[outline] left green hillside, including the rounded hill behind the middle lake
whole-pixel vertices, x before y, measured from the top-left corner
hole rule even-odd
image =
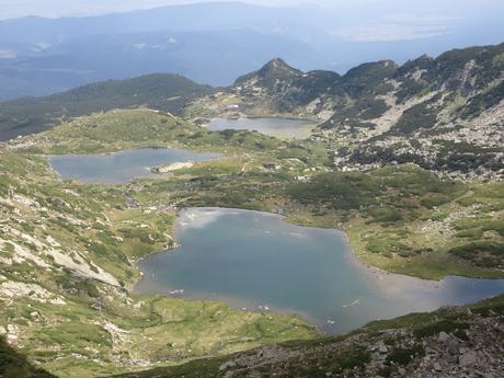
[[[41,154],[176,146],[244,156],[285,142],[211,133],[149,110],[79,117],[31,138],[0,147],[0,335],[31,363],[61,378],[90,378],[317,336],[294,317],[134,293],[136,263],[174,247],[173,198],[197,195],[201,181],[209,186],[208,175],[239,171],[241,160],[196,164],[180,180],[159,180],[183,191],[165,188],[170,203],[152,207],[153,198],[134,199],[149,196],[137,192],[149,180],[60,181]]]

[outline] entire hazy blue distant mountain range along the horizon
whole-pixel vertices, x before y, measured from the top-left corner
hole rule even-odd
[[[504,37],[499,18],[482,21],[477,14],[471,20],[447,19],[420,35],[373,36],[366,27],[387,13],[387,7],[380,7],[377,15],[373,9],[343,12],[316,5],[215,2],[100,16],[4,20],[0,100],[153,72],[228,85],[275,56],[305,70],[343,73],[363,61],[403,62],[422,53],[437,55],[462,43],[489,44]],[[389,20],[381,22],[389,27]],[[479,27],[483,22],[484,32]],[[366,27],[354,31],[355,25]]]

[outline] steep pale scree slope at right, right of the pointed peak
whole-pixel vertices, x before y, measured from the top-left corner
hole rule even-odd
[[[375,96],[387,108],[370,119],[363,117],[369,107],[350,119],[335,115],[324,125],[333,141],[356,139],[351,151],[340,150],[337,163],[414,162],[458,176],[504,176],[503,80],[504,44],[408,62]]]

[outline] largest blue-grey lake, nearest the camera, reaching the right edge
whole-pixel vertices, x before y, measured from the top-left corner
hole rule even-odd
[[[187,209],[175,237],[181,248],[139,263],[138,294],[298,314],[330,334],[504,293],[504,280],[431,282],[366,267],[341,232],[293,226],[273,214]]]

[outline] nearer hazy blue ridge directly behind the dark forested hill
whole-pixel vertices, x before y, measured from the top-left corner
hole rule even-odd
[[[308,64],[314,54],[297,39],[253,31],[85,36],[36,56],[0,59],[0,99],[44,95],[153,72],[174,72],[222,85],[277,55]]]

